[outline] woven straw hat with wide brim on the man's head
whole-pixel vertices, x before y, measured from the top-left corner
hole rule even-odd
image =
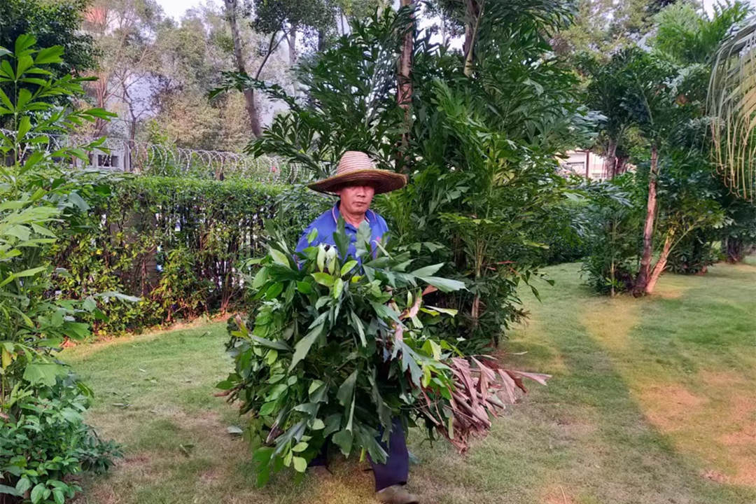
[[[407,175],[377,169],[366,153],[347,150],[339,159],[336,175],[313,182],[307,187],[321,193],[334,193],[339,187],[357,184],[375,188],[376,194],[388,193],[407,185]]]

